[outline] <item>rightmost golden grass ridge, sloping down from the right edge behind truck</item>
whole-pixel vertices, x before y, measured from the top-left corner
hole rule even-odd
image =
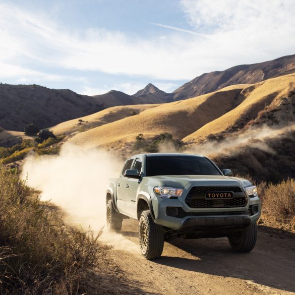
[[[204,141],[208,136],[214,137],[217,134],[245,129],[255,123],[255,120],[261,119],[263,113],[273,110],[279,111],[278,114],[281,115],[279,118],[281,122],[277,122],[277,125],[282,121],[294,120],[293,106],[295,101],[292,98],[294,87],[295,74],[249,85],[241,91],[241,95],[245,96],[241,104],[202,128],[196,129],[194,133],[184,137],[183,141],[194,144]],[[286,104],[289,104],[289,107],[283,107]],[[281,111],[282,108],[283,111]],[[275,122],[274,115],[272,116],[269,115],[268,121]]]

